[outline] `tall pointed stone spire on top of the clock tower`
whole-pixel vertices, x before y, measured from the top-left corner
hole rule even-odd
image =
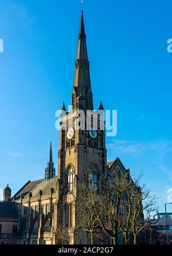
[[[77,56],[75,62],[75,77],[71,102],[73,110],[93,109],[83,10],[81,12]]]

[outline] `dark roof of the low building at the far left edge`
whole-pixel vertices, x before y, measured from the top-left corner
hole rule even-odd
[[[0,219],[17,219],[18,208],[15,202],[3,201],[0,202]]]

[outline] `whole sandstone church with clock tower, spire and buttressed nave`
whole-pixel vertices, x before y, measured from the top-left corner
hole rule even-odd
[[[107,162],[105,129],[100,129],[104,127],[103,119],[98,119],[96,129],[92,128],[93,117],[85,119],[85,123],[90,123],[90,129],[76,129],[77,110],[85,114],[87,110],[94,112],[83,12],[71,90],[71,112],[67,112],[64,103],[61,109],[58,174],[55,173],[50,143],[45,177],[28,181],[12,197],[9,186],[4,190],[0,202],[0,244],[55,244],[54,234],[59,227],[68,228],[70,244],[90,244],[87,232],[77,228],[75,207],[70,203],[73,194],[77,197],[77,184],[87,170],[91,171],[96,185],[101,184],[104,175],[107,177],[117,170],[127,171],[119,158]],[[99,111],[103,111],[101,102]],[[99,243],[111,243],[106,239],[102,238]]]

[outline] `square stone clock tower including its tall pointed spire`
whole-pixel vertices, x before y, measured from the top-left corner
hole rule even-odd
[[[79,229],[75,207],[70,204],[77,197],[77,184],[91,171],[95,185],[101,184],[107,171],[103,105],[93,110],[93,95],[89,75],[83,11],[81,13],[75,76],[71,95],[71,112],[62,105],[60,148],[58,150],[57,226],[68,228],[71,244],[90,244],[87,232]],[[89,110],[89,111],[88,111]],[[81,118],[81,116],[83,118]],[[74,233],[77,233],[75,238]]]

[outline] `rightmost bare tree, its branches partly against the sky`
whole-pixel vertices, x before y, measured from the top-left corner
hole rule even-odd
[[[151,195],[151,191],[146,185],[139,186],[142,176],[133,181],[131,179],[130,186],[126,187],[126,210],[124,215],[119,218],[119,227],[123,231],[125,243],[128,243],[128,234],[132,234],[133,243],[137,243],[137,238],[143,230],[151,231],[151,224],[155,223],[155,217],[158,215],[156,207],[156,197]],[[144,220],[144,215],[146,220]]]

